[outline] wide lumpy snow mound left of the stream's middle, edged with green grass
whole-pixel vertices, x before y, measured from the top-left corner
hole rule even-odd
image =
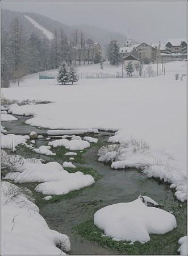
[[[14,180],[15,183],[44,182],[37,185],[35,190],[45,195],[61,195],[95,183],[91,175],[84,175],[82,172],[69,174],[57,162],[47,164],[23,162],[19,166],[19,171],[9,172],[4,179]]]

